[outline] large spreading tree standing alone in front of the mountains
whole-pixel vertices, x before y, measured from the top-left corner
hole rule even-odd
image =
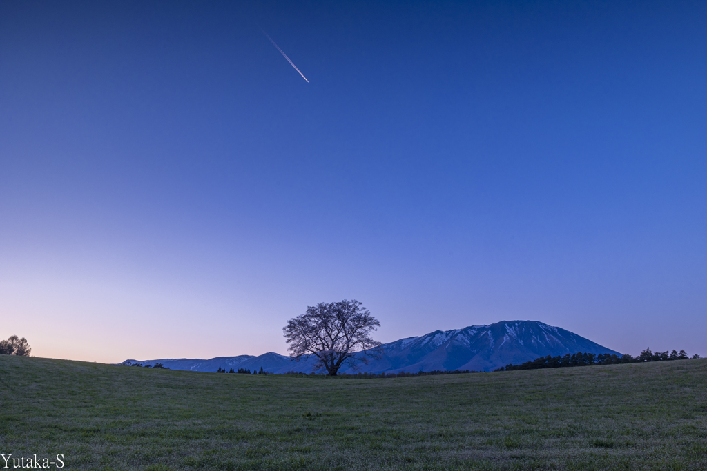
[[[362,303],[344,299],[309,306],[282,330],[293,360],[314,355],[319,359],[315,369],[325,368],[329,376],[337,376],[343,364],[358,369],[359,363],[369,364],[371,358],[380,357],[380,342],[370,338],[376,327],[380,322]]]

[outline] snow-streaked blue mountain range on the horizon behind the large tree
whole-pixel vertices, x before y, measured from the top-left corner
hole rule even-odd
[[[468,369],[491,371],[506,364],[529,362],[547,355],[568,353],[615,353],[591,340],[569,330],[548,326],[537,321],[501,321],[490,326],[469,326],[459,330],[436,330],[422,337],[409,337],[382,345],[382,358],[368,365],[361,365],[359,371],[370,373],[399,371],[433,371]],[[170,369],[187,371],[216,371],[219,367],[258,371],[261,367],[270,373],[282,374],[288,371],[310,373],[315,359],[291,361],[277,353],[266,353],[258,357],[240,355],[238,357],[216,357],[211,359],[125,360],[121,364],[153,366],[161,363]],[[351,373],[344,367],[339,373]]]

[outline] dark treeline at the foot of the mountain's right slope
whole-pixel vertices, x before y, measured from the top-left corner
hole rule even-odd
[[[597,364],[625,364],[625,363],[645,363],[645,362],[670,362],[672,360],[682,360],[690,358],[685,350],[673,350],[672,352],[651,352],[646,348],[638,357],[614,353],[583,353],[566,354],[563,357],[547,355],[538,357],[531,362],[521,364],[507,364],[494,371],[513,371],[517,369],[543,369],[543,368],[564,368],[566,366],[592,366]],[[692,355],[692,358],[700,358],[699,354]]]

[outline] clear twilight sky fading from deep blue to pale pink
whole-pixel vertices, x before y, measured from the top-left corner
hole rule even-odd
[[[534,320],[707,355],[707,4],[3,2],[0,338]],[[291,66],[268,39],[296,64]]]

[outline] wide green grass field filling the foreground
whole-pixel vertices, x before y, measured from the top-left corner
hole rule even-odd
[[[62,453],[65,470],[707,470],[707,360],[364,380],[0,355],[0,453]]]

